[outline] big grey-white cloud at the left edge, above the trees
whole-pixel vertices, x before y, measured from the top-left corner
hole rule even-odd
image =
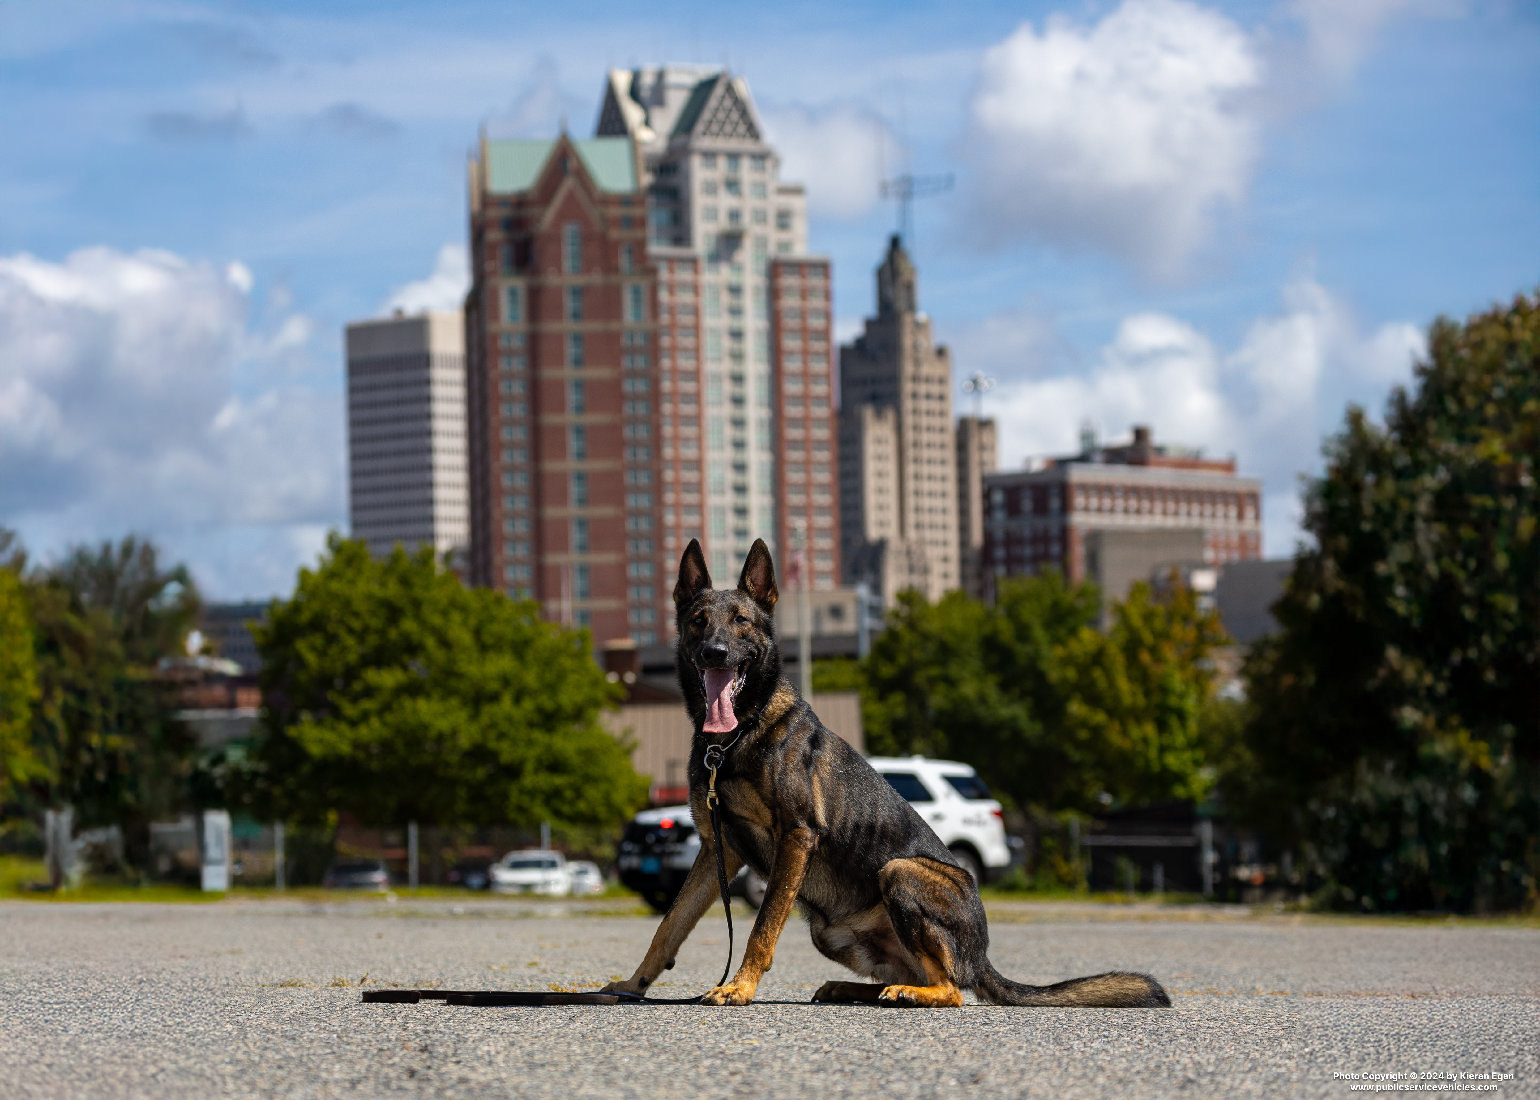
[[[253,331],[249,288],[243,265],[165,251],[0,257],[0,522],[42,556],[129,532],[186,555],[256,532],[216,595],[286,590],[288,532],[342,521],[342,408],[276,381],[311,322]]]

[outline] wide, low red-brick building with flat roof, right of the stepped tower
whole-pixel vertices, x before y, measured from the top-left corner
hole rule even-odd
[[[1121,599],[1167,567],[1261,558],[1261,482],[1235,459],[1133,441],[984,478],[984,587],[993,578],[1055,568]]]

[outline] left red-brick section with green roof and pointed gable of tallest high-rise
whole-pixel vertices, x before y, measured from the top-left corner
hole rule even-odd
[[[636,149],[484,140],[470,194],[471,582],[599,639],[656,641],[656,277]]]

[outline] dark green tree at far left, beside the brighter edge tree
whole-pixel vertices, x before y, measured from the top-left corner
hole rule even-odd
[[[160,658],[185,653],[197,589],[136,538],[75,547],[28,589],[40,689],[32,741],[46,769],[35,798],[74,806],[82,826],[120,826],[129,864],[143,869],[149,823],[186,807],[197,752],[156,676]]]

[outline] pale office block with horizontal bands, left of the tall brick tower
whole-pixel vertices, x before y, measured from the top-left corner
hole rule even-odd
[[[388,555],[470,538],[465,325],[459,313],[348,325],[348,498],[353,538]]]

